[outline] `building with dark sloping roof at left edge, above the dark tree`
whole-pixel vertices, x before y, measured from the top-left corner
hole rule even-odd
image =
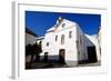
[[[26,28],[26,45],[36,43],[37,37],[32,30]]]

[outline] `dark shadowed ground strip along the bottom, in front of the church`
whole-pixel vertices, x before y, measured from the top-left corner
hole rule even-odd
[[[78,65],[67,65],[67,63],[59,63],[58,61],[39,61],[32,63],[26,63],[26,69],[51,69],[51,68],[75,68],[75,67],[97,67],[101,65],[101,61],[99,62],[84,62],[79,63]]]

